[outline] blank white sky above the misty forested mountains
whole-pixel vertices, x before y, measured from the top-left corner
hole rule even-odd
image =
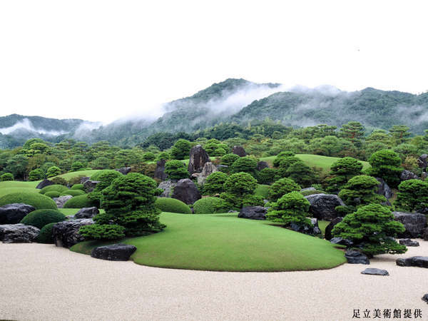
[[[0,116],[113,121],[225,78],[428,90],[428,1],[0,1]]]

